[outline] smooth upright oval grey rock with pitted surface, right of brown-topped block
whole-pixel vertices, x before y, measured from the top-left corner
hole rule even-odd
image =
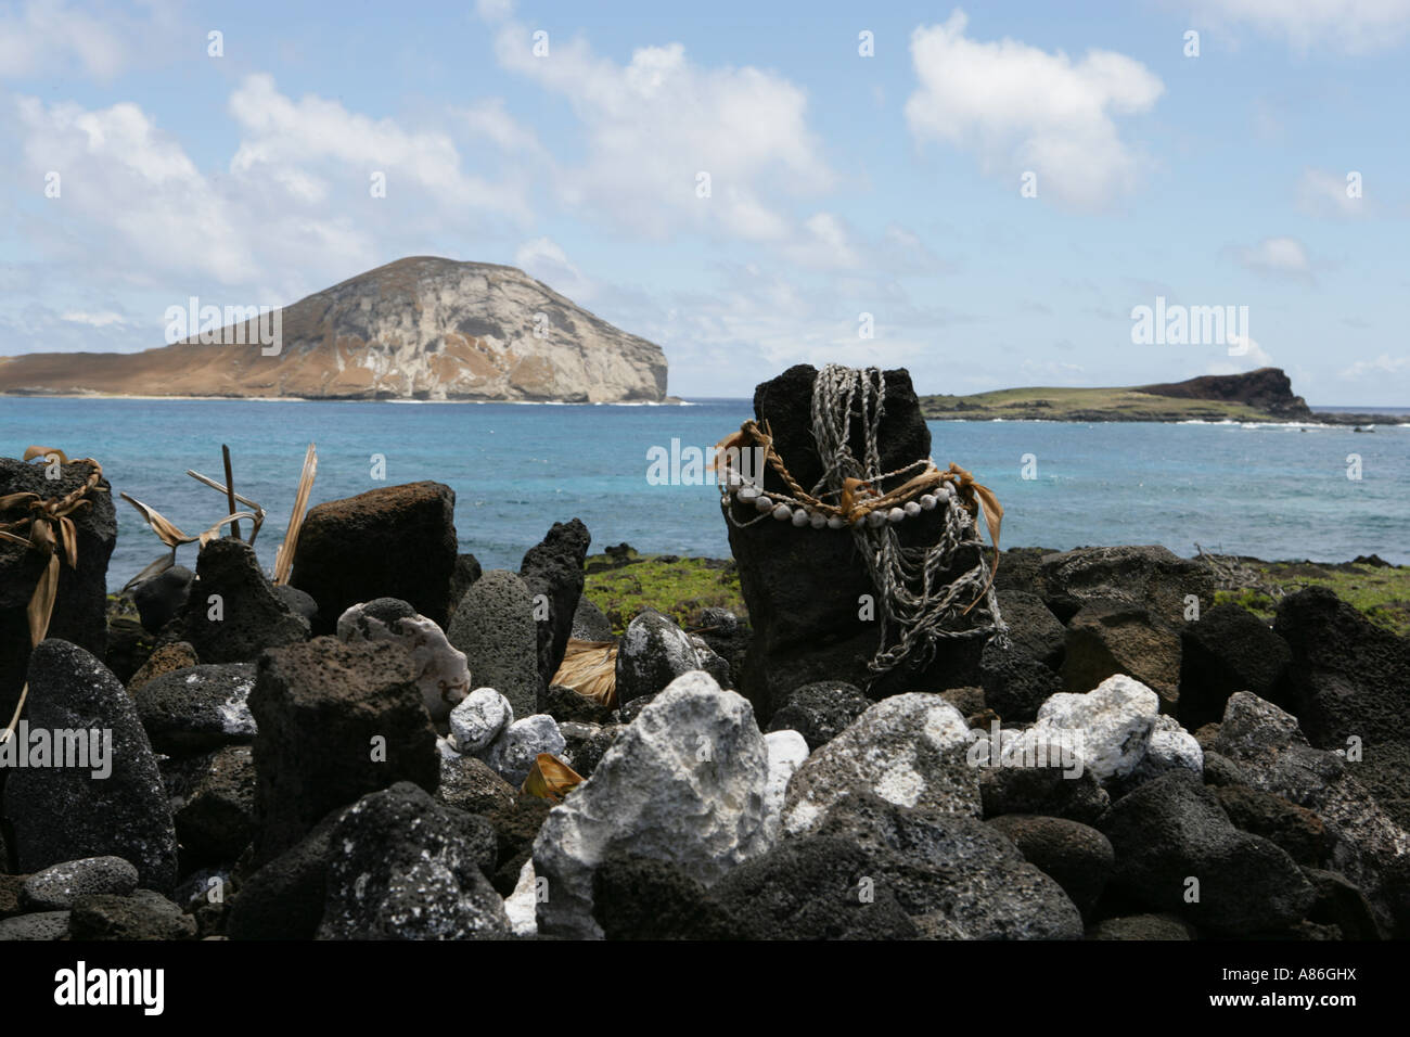
[[[470,676],[509,700],[515,714],[527,717],[539,704],[539,625],[533,594],[522,578],[503,569],[479,577],[455,608],[446,631],[465,653]]]

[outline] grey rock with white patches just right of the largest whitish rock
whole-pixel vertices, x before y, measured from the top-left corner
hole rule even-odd
[[[838,803],[874,793],[890,803],[980,814],[969,725],[935,694],[884,698],[812,753],[788,782],[784,831],[816,831]]]

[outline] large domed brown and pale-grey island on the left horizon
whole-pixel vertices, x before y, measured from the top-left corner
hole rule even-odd
[[[0,392],[592,404],[666,396],[660,346],[513,267],[398,260],[286,306],[281,325],[275,356],[265,356],[251,322],[219,340],[255,344],[188,340],[133,354],[0,358]]]

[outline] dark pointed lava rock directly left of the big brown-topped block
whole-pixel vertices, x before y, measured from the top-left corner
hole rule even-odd
[[[200,549],[196,583],[173,626],[206,663],[251,663],[266,648],[309,639],[309,621],[274,593],[254,547],[230,538]]]

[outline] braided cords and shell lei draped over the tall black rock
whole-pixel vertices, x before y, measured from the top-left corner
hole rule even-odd
[[[757,447],[768,467],[777,473],[788,494],[770,492],[771,499],[805,507],[828,516],[840,518],[852,530],[857,549],[867,566],[880,598],[881,638],[869,669],[877,676],[887,673],[902,660],[916,656],[929,665],[939,641],[956,638],[998,636],[1007,642],[1008,628],[994,594],[994,574],[998,571],[998,539],[1004,508],[991,490],[957,464],[940,470],[929,457],[912,461],[893,471],[881,471],[881,451],[877,435],[885,405],[885,380],[878,368],[857,370],[842,364],[828,364],[814,382],[812,433],[818,456],[823,464],[822,477],[805,490],[788,471],[774,449],[774,437],[764,422],[746,420],[739,432],[716,444],[716,471],[728,475],[730,456]],[[864,457],[859,460],[850,447],[853,409],[862,415]],[[885,490],[885,484],[915,473],[900,485]],[[922,547],[902,547],[891,522],[873,525],[867,515],[878,509],[901,507],[935,488],[950,485],[953,499],[960,507],[946,507],[945,525],[939,540]],[[746,528],[759,518],[739,521],[726,507],[728,519]],[[983,514],[994,549],[994,566],[979,553],[977,563],[940,583],[940,574],[953,567],[956,552],[981,543],[977,519]],[[970,624],[959,625],[974,612]],[[893,643],[893,631],[895,631]]]

